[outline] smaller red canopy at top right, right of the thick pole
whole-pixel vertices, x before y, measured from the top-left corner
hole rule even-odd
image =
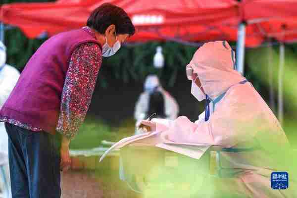
[[[296,0],[243,0],[241,17],[257,34],[282,42],[297,39]]]

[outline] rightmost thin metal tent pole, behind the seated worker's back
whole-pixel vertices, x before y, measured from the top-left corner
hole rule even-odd
[[[285,66],[285,45],[282,42],[280,45],[280,65],[279,65],[279,76],[278,76],[278,118],[280,123],[283,125],[284,121],[284,96],[283,96],[283,77],[284,77],[284,66]]]

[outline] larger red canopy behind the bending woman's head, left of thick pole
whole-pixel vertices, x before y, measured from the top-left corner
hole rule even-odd
[[[3,23],[19,27],[29,38],[49,36],[85,25],[87,17],[103,2],[124,8],[137,28],[131,41],[175,38],[203,41],[228,38],[219,26],[238,24],[234,0],[59,0],[54,3],[12,3],[0,10]]]

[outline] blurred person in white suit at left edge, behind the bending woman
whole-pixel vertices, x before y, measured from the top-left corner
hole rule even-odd
[[[20,74],[12,66],[5,64],[6,48],[0,42],[0,108],[8,98]],[[8,137],[4,123],[0,122],[0,192],[10,198],[10,177],[8,168]],[[0,194],[1,194],[0,193]]]

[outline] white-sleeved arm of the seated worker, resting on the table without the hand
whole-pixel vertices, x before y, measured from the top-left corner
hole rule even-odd
[[[233,147],[265,127],[265,112],[257,108],[253,93],[240,98],[236,92],[227,93],[221,102],[206,122],[193,123],[185,116],[176,119],[168,130],[169,140]]]

